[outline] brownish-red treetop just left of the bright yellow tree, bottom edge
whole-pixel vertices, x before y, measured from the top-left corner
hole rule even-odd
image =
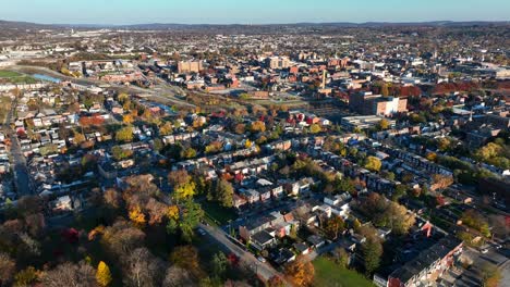
[[[77,264],[65,262],[58,265],[56,269],[46,272],[42,276],[42,286],[97,286],[94,273],[94,269],[83,261]]]

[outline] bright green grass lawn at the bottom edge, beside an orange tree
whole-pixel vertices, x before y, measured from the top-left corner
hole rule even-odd
[[[355,271],[340,267],[333,261],[319,257],[314,260],[317,287],[374,287],[375,285]]]

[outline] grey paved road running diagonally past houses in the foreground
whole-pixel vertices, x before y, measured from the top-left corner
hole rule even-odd
[[[283,275],[276,271],[271,265],[259,262],[255,255],[233,244],[229,238],[227,238],[226,234],[220,228],[205,224],[201,224],[199,227],[209,234],[209,236],[211,236],[215,240],[221,244],[226,249],[234,253],[240,259],[241,263],[251,266],[258,276],[266,280],[270,279],[272,276],[279,276],[280,278],[283,278]],[[288,285],[290,286],[290,284]]]

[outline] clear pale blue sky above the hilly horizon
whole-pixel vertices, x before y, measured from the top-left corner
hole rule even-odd
[[[510,21],[510,0],[0,0],[0,20],[119,25]]]

